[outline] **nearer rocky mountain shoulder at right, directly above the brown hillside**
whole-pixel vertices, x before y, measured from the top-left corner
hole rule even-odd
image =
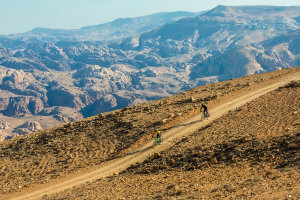
[[[191,79],[219,81],[300,66],[300,30],[210,56],[192,68]],[[205,79],[205,78],[204,78]]]

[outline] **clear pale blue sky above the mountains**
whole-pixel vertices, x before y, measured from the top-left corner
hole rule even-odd
[[[217,5],[300,5],[299,0],[0,0],[0,34],[33,28],[76,29],[158,12],[210,10]]]

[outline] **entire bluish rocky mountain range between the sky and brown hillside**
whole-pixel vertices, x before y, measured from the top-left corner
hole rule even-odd
[[[65,123],[209,82],[300,65],[300,7],[218,6],[193,15],[80,29],[88,38],[91,30],[135,26],[120,37],[135,36],[105,44],[83,42],[76,31],[68,33],[72,41],[65,31],[43,29],[30,34],[45,40],[29,33],[0,37],[0,114]],[[144,32],[154,18],[161,26]]]

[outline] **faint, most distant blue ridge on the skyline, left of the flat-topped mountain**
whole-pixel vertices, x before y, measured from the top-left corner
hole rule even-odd
[[[158,28],[166,23],[172,23],[181,18],[194,17],[203,12],[164,12],[152,15],[119,18],[112,22],[87,26],[81,29],[49,29],[35,28],[32,31],[9,35],[8,39],[18,39],[26,42],[58,42],[58,41],[111,41],[139,35]],[[8,43],[8,42],[7,42]]]

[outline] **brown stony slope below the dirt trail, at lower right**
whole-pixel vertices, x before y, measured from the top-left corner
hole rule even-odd
[[[120,175],[44,199],[299,199],[299,94],[288,84]]]

